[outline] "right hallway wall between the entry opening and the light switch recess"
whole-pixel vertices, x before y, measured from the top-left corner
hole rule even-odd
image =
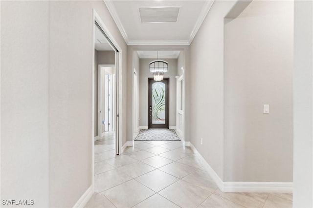
[[[224,17],[234,3],[235,1],[214,1],[190,45],[190,66],[192,67],[189,75],[190,120],[187,120],[192,125],[190,141],[222,179],[224,168]],[[187,75],[186,78],[188,78]],[[187,90],[186,87],[186,93],[188,93]],[[201,138],[203,138],[203,145],[201,145]]]

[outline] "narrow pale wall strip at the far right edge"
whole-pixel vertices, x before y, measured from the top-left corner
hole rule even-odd
[[[313,207],[313,3],[294,1],[293,207]]]

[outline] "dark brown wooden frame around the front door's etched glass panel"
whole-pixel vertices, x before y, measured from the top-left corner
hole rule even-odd
[[[156,127],[152,124],[152,116],[150,115],[150,102],[152,102],[151,84],[150,82],[157,83],[154,78],[148,78],[148,128],[169,128],[170,127],[170,78],[163,78],[167,80],[167,87],[165,89],[165,127]]]

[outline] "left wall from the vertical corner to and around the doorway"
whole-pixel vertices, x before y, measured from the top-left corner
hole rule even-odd
[[[50,1],[49,4],[50,206],[72,207],[92,179],[92,9],[122,49],[122,79],[126,77],[127,46],[103,1]],[[60,35],[60,31],[66,35]],[[120,101],[123,144],[126,142],[124,83],[122,80]]]

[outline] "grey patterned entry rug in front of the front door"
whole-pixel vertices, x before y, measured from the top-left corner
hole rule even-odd
[[[140,129],[137,137],[137,141],[169,141],[169,140],[180,140],[174,129],[168,128],[149,128]]]

